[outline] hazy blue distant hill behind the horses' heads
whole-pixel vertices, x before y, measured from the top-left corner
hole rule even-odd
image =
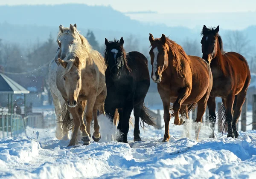
[[[151,15],[154,14],[156,13],[151,13]],[[170,22],[175,21],[171,17],[169,19]],[[200,46],[201,40],[202,27],[200,26],[190,29],[183,26],[169,27],[165,24],[143,23],[131,20],[127,15],[110,6],[87,6],[84,4],[0,6],[0,39],[25,44],[25,47],[37,41],[46,41],[50,34],[55,38],[58,26],[60,24],[69,26],[70,23],[76,23],[82,34],[86,34],[88,29],[92,30],[100,45],[104,44],[105,37],[113,40],[115,37],[126,39],[132,35],[138,39],[140,49],[148,48],[150,45],[149,33],[154,37],[166,34],[180,44],[185,39],[191,39],[198,41]],[[206,25],[210,24],[206,23]],[[252,45],[256,45],[256,26],[251,26],[243,31],[250,38]],[[226,34],[222,27],[220,34],[222,37]]]

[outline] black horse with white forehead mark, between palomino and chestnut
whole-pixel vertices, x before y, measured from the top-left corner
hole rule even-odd
[[[125,52],[123,38],[109,42],[105,39],[105,72],[107,97],[105,113],[113,122],[116,108],[119,113],[117,129],[121,135],[119,142],[127,143],[129,119],[134,109],[134,141],[141,141],[139,118],[148,125],[155,126],[152,117],[144,105],[144,99],[150,85],[147,58],[137,51]]]

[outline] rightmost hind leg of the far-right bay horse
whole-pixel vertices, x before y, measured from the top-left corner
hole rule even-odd
[[[232,128],[233,128],[233,132],[234,132],[234,135],[236,138],[238,138],[238,136],[239,136],[236,125],[237,125],[238,119],[241,115],[241,109],[242,109],[242,106],[243,106],[245,98],[246,98],[246,93],[247,93],[247,91],[241,91],[237,95],[236,107],[235,107],[234,116],[232,119]]]

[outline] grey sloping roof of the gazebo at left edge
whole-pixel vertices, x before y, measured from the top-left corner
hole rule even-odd
[[[13,81],[11,78],[0,73],[0,94],[28,94],[29,91],[26,88]]]

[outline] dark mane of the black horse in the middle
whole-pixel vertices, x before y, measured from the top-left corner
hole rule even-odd
[[[128,63],[127,63],[126,51],[125,51],[125,49],[124,49],[121,45],[119,45],[119,40],[114,39],[114,41],[110,41],[110,42],[109,42],[109,46],[111,46],[111,49],[116,48],[116,49],[118,49],[119,51],[122,51],[122,53],[123,53],[123,55],[124,55],[123,58],[124,58],[125,68],[126,68],[129,72],[131,72],[131,68],[129,68]],[[105,65],[106,65],[106,66],[108,66],[108,52],[109,52],[109,49],[106,47],[106,48],[105,48],[105,51],[104,51],[104,58],[105,58]]]

